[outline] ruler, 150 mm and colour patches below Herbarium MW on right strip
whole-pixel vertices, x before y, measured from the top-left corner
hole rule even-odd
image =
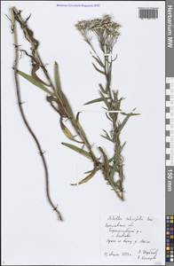
[[[174,263],[173,178],[174,178],[174,77],[166,77],[165,96],[165,181],[166,181],[166,265]]]

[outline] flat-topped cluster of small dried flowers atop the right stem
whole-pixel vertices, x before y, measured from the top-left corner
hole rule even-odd
[[[94,33],[102,51],[110,52],[120,35],[118,30],[121,25],[113,21],[110,15],[104,15],[101,19],[78,21],[75,27],[87,43],[91,42],[91,34]]]

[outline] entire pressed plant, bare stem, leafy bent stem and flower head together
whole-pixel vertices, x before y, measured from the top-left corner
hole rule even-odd
[[[47,68],[39,55],[39,42],[36,40],[34,32],[28,27],[28,19],[30,18],[30,16],[26,20],[24,20],[21,16],[21,11],[17,10],[15,7],[12,7],[10,11],[12,34],[14,37],[13,71],[18,104],[21,117],[26,127],[28,128],[29,133],[34,138],[43,161],[46,180],[46,196],[48,202],[58,214],[59,220],[62,220],[62,216],[58,210],[58,207],[56,207],[51,200],[48,168],[44,158],[43,150],[35,133],[29,126],[26,115],[24,113],[24,108],[20,96],[19,76],[25,78],[26,80],[28,80],[28,82],[34,84],[36,87],[46,93],[46,101],[58,114],[60,129],[62,129],[66,137],[72,142],[63,142],[62,145],[67,146],[75,153],[79,153],[86,157],[88,160],[91,160],[93,168],[87,173],[87,176],[85,176],[83,180],[77,184],[84,184],[88,182],[100,170],[103,173],[104,179],[107,181],[107,184],[112,187],[118,198],[123,200],[124,175],[122,151],[125,143],[121,144],[120,135],[124,125],[129,120],[130,116],[137,115],[138,113],[124,113],[121,110],[121,103],[123,101],[123,98],[118,97],[117,90],[111,89],[112,66],[113,62],[115,61],[115,59],[112,58],[112,53],[116,40],[119,36],[118,30],[120,28],[120,25],[115,23],[109,15],[105,15],[101,19],[97,20],[79,21],[75,25],[75,27],[83,35],[84,41],[90,45],[92,58],[96,61],[95,64],[92,65],[100,74],[106,77],[106,84],[99,84],[99,98],[86,103],[87,105],[96,102],[103,102],[106,108],[107,119],[109,120],[109,122],[111,122],[112,126],[109,132],[107,132],[107,130],[104,130],[104,135],[102,135],[102,137],[105,137],[108,141],[113,143],[114,154],[111,158],[108,158],[105,149],[99,146],[98,148],[101,156],[98,157],[95,154],[89,138],[84,132],[83,126],[79,119],[80,112],[76,114],[73,112],[69,100],[67,99],[66,94],[61,88],[59,78],[59,65],[56,61],[54,62],[53,66],[54,80],[51,80],[51,75],[48,73]],[[21,45],[19,45],[18,43],[17,23],[23,31],[24,38],[30,44],[29,51],[22,50]],[[99,49],[102,51],[103,59],[99,57],[98,52],[95,50],[92,44],[92,35],[97,36]],[[26,74],[19,69],[19,53],[23,53],[30,59],[30,74]],[[45,80],[39,77],[38,70],[41,70],[43,72]],[[120,121],[119,115],[123,116],[122,121]],[[71,129],[67,127],[67,121],[70,123]],[[74,131],[74,134],[72,133],[72,130]]]

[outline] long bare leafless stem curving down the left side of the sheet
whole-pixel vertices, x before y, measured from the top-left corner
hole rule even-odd
[[[22,100],[21,100],[21,95],[20,95],[20,82],[18,79],[18,74],[17,74],[17,70],[18,70],[18,65],[19,65],[19,50],[18,50],[18,36],[17,36],[17,29],[16,29],[16,20],[15,20],[15,15],[14,15],[14,8],[11,9],[11,14],[12,14],[12,34],[13,34],[13,40],[14,40],[14,64],[13,64],[13,70],[14,70],[14,80],[15,80],[15,88],[16,88],[16,94],[17,94],[17,99],[18,99],[18,106],[20,109],[20,115],[22,117],[22,120],[24,121],[24,124],[26,125],[29,134],[31,135],[31,137],[33,137],[38,152],[41,155],[41,159],[43,162],[43,167],[44,167],[44,176],[45,176],[45,184],[46,184],[46,197],[47,200],[49,202],[49,204],[51,205],[51,207],[53,208],[53,210],[56,212],[56,214],[58,215],[58,218],[60,221],[63,221],[62,215],[60,214],[59,210],[57,209],[57,207],[53,204],[52,200],[51,200],[51,195],[50,195],[50,184],[49,184],[49,173],[48,173],[48,167],[46,164],[46,160],[44,158],[44,152],[42,150],[42,147],[38,141],[38,138],[36,137],[36,134],[34,133],[33,129],[31,129],[28,120],[26,118],[26,115],[24,113],[23,107],[22,107]]]

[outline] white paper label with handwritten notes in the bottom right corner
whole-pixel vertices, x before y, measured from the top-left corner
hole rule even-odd
[[[105,262],[164,263],[164,224],[159,219],[151,215],[103,215],[101,226],[101,256]]]

